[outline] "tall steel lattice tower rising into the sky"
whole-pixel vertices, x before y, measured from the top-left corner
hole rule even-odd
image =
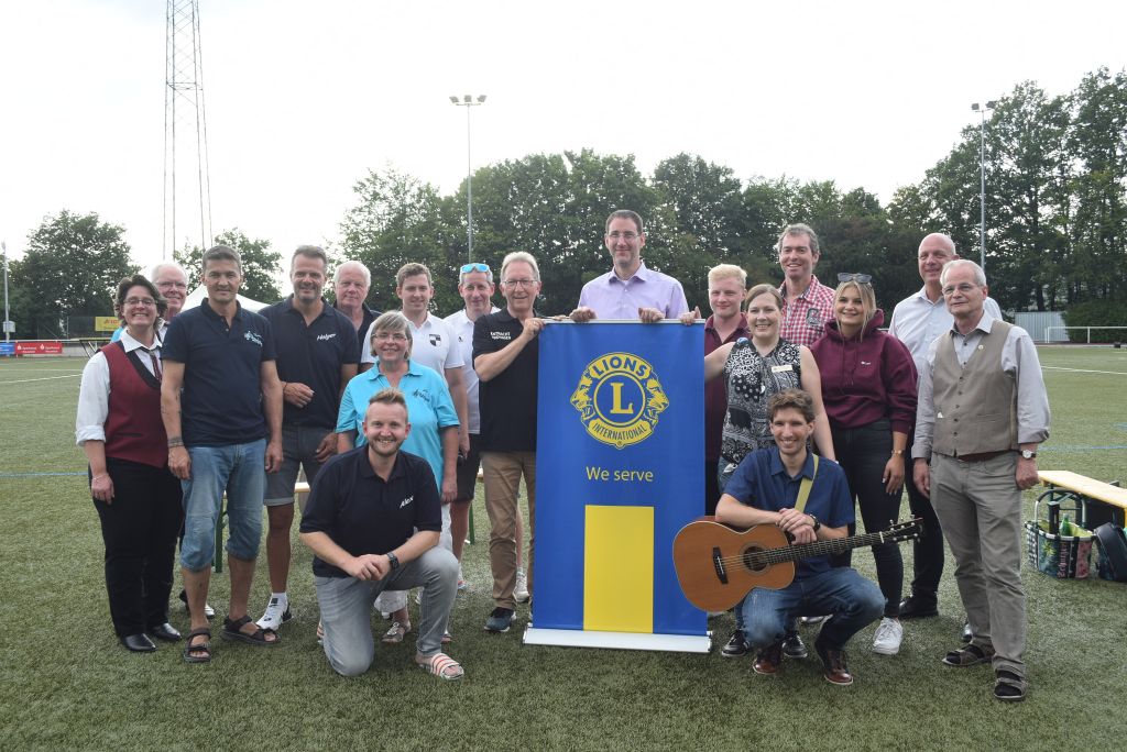
[[[179,136],[179,138],[177,138]],[[187,227],[199,215],[199,236]],[[165,222],[162,256],[177,248],[178,232],[208,248],[211,179],[207,174],[207,118],[198,0],[168,0],[165,32]]]

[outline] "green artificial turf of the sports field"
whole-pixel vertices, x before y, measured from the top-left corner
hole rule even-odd
[[[1041,348],[1053,406],[1042,469],[1102,480],[1127,475],[1127,351]],[[207,665],[178,646],[127,653],[109,623],[103,545],[73,442],[78,359],[0,361],[0,747],[97,750],[447,749],[1106,749],[1121,745],[1127,713],[1127,585],[1057,581],[1023,570],[1029,594],[1030,693],[1004,705],[990,669],[940,663],[958,644],[962,610],[949,569],[939,618],[905,623],[899,655],[850,646],[857,682],[824,681],[816,659],[778,678],[724,659],[730,616],[710,620],[708,655],[532,647],[529,611],[508,634],[482,632],[491,609],[488,522],[467,547],[471,589],[452,615],[451,655],[467,675],[442,682],[415,668],[414,633],[378,647],[363,677],[332,673],[317,645],[310,556],[294,531],[283,644],[218,638]],[[1072,370],[1067,370],[1072,369]],[[1091,373],[1108,371],[1108,373]],[[76,473],[76,475],[33,475]],[[1127,478],[1124,478],[1127,480]],[[1033,491],[1027,493],[1027,518]],[[905,500],[902,517],[907,517]],[[295,526],[296,528],[296,526]],[[911,546],[904,546],[906,581]],[[264,548],[265,555],[265,548]],[[853,556],[873,576],[872,557]],[[177,576],[177,585],[179,578]],[[906,589],[906,588],[905,588]],[[251,610],[266,605],[265,559]],[[211,602],[225,612],[227,574]],[[175,596],[174,596],[175,598]],[[414,618],[417,607],[411,603]],[[171,620],[187,629],[179,602]],[[385,628],[378,616],[373,629]],[[808,643],[814,630],[804,628]]]

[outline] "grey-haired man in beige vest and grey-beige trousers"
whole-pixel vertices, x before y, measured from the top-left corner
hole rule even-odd
[[[982,267],[951,261],[940,284],[955,326],[931,343],[920,371],[913,476],[955,554],[974,635],[943,663],[992,661],[994,697],[1020,701],[1027,687],[1021,492],[1038,482],[1048,395],[1029,334],[985,311]]]

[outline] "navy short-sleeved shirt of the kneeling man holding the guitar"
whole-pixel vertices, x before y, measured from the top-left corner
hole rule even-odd
[[[797,477],[791,477],[779,456],[779,447],[757,449],[739,463],[724,492],[747,507],[778,512],[795,507],[804,477],[814,478],[804,512],[814,514],[818,521],[832,528],[853,521],[853,496],[849,491],[845,471],[834,460],[819,457],[818,476],[815,478],[814,455],[809,453],[802,472]],[[801,580],[828,571],[829,557],[815,556],[795,564],[795,579]]]

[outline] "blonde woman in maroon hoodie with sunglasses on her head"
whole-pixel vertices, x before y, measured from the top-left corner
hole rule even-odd
[[[834,320],[810,346],[822,371],[822,399],[829,417],[837,462],[861,509],[864,529],[886,530],[900,512],[908,432],[916,410],[916,369],[912,353],[895,337],[880,331],[885,313],[869,275],[837,275]],[[850,526],[850,535],[855,526]],[[884,593],[885,618],[872,650],[895,655],[904,628],[899,621],[904,562],[895,543],[873,546],[877,582]],[[848,566],[846,552],[835,557]]]

